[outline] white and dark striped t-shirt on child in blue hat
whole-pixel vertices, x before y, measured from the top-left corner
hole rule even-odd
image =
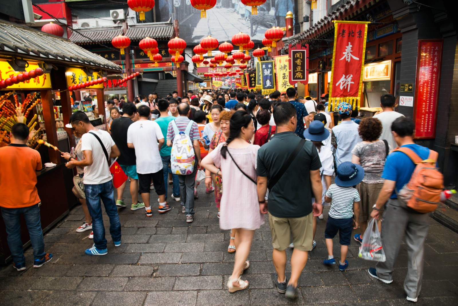
[[[360,201],[358,190],[353,187],[341,187],[336,184],[329,186],[326,196],[332,198],[329,216],[336,219],[353,217],[353,202]]]

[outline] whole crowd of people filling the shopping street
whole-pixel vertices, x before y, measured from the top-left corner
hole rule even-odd
[[[105,110],[109,133],[94,128],[84,112],[76,111],[69,127],[80,140],[75,154],[63,153],[62,158],[66,167],[76,167],[80,178],[75,194],[85,223],[76,231],[91,230],[89,238],[93,239],[93,246],[85,253],[108,253],[101,201],[113,243],[121,245],[117,207],[126,207],[126,183],[114,193],[109,171],[117,157],[130,181],[131,210],[144,209],[147,217],[153,216],[156,206],[150,196],[153,189],[158,195],[158,213],[169,211],[174,200],[180,203],[186,223],[194,221],[196,186],[203,182],[205,192],[214,194],[214,213],[220,228],[230,231],[228,252],[235,253],[229,292],[249,286],[241,276],[250,267],[254,232],[265,223],[267,214],[277,290],[288,299],[297,298],[298,279],[308,252],[316,246],[316,218],[323,219],[322,206],[330,203],[324,233],[328,256],[323,264],[338,264],[338,269],[345,271],[352,238],[360,244],[367,222],[377,218],[387,260],[368,273],[383,283],[393,282],[393,267],[405,233],[409,266],[404,289],[407,300],[416,301],[428,215],[410,211],[398,199],[397,191],[408,183],[415,164],[403,152],[392,150],[407,147],[421,159],[427,159],[430,150],[414,144],[414,124],[393,111],[393,95],[383,95],[383,111],[360,122],[352,116],[352,105],[341,102],[329,112],[323,102],[298,97],[294,88],[268,97],[230,90],[189,91],[184,97],[174,91],[166,98],[153,93],[137,96],[133,103],[114,98],[107,101]],[[10,186],[11,180],[4,178],[9,172],[0,172],[0,188],[5,193],[0,206],[18,271],[25,269],[18,234],[20,214],[27,216],[33,267],[52,259],[52,254],[44,252],[35,187],[34,172],[41,169],[41,159],[27,147],[27,140],[27,126],[17,123],[11,129],[11,145],[0,148],[1,164],[22,163],[21,170],[14,172],[27,183],[17,192],[17,187]],[[205,176],[197,181],[200,170]],[[172,185],[172,200],[168,200],[168,185]],[[361,232],[352,236],[357,228]],[[333,254],[337,234],[341,245],[338,261]],[[287,248],[293,248],[289,279],[285,275]]]

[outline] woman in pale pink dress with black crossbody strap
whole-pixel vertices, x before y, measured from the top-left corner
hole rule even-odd
[[[251,116],[246,111],[234,112],[230,119],[229,138],[202,160],[202,167],[223,177],[219,227],[237,229],[238,245],[234,269],[228,282],[229,292],[248,287],[248,281],[242,281],[240,275],[250,266],[246,259],[254,232],[264,224],[256,190],[259,146],[247,142],[253,134]]]

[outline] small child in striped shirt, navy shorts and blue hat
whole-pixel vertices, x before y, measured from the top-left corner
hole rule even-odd
[[[335,184],[329,186],[325,196],[325,201],[327,203],[331,202],[331,209],[329,210],[329,217],[324,231],[328,256],[323,263],[325,265],[336,263],[333,256],[333,238],[339,232],[340,271],[344,271],[348,267],[346,257],[351,241],[351,231],[352,228],[358,228],[360,217],[360,195],[353,186],[359,184],[363,178],[363,167],[345,161],[337,167]],[[353,227],[353,212],[355,227]]]

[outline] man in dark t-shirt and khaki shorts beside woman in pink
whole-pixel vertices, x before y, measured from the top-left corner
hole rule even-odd
[[[269,202],[265,201],[267,182],[281,170],[301,138],[294,134],[297,113],[289,102],[279,102],[273,109],[277,132],[258,151],[257,190],[260,209],[269,214],[272,234],[273,263],[277,270],[277,290],[289,299],[298,296],[297,281],[307,263],[308,251],[312,249],[313,216],[322,213],[322,197],[312,204],[311,191],[322,194],[320,157],[315,145],[306,140],[278,182],[269,190]],[[312,189],[312,190],[311,190]],[[286,248],[290,233],[293,234],[294,251],[291,256],[291,278],[285,276]]]

